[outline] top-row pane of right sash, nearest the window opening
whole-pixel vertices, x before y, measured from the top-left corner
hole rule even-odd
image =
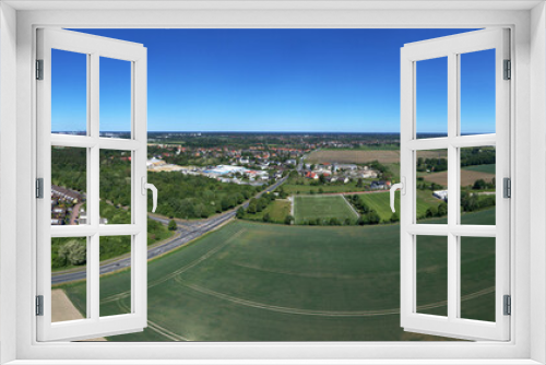
[[[448,58],[416,62],[417,138],[448,136]]]

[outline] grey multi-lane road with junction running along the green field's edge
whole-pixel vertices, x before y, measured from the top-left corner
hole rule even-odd
[[[281,180],[276,181],[272,186],[268,187],[265,190],[257,193],[254,198],[260,198],[263,193],[265,192],[271,192],[275,190],[278,186],[284,184],[288,177],[283,177]],[[242,203],[244,208],[248,207],[249,201],[246,201]],[[177,222],[178,229],[177,233],[180,234],[176,235],[175,238],[169,239],[165,242],[164,244],[161,244],[158,246],[153,246],[150,247],[147,250],[147,259],[153,259],[154,257],[157,257],[159,255],[163,255],[165,252],[168,252],[175,248],[178,248],[180,246],[183,246],[190,242],[192,242],[195,238],[201,237],[205,233],[209,233],[216,228],[217,226],[226,223],[227,221],[232,220],[235,214],[237,214],[237,209],[227,211],[225,213],[218,214],[216,216],[213,216],[207,220],[200,220],[200,221],[189,221],[189,222]],[[163,224],[167,225],[169,223],[169,219],[166,217],[158,217],[156,215],[150,215],[150,219],[162,222]],[[130,256],[123,256],[119,258],[118,260],[107,260],[105,263],[100,264],[100,275],[110,273],[114,271],[118,271],[124,268],[129,268],[131,266],[131,257]],[[61,272],[54,272],[51,274],[51,285],[56,284],[61,284],[61,283],[68,283],[72,281],[78,281],[78,280],[83,280],[86,278],[86,270],[81,269],[81,270],[67,270],[67,271],[61,271]]]

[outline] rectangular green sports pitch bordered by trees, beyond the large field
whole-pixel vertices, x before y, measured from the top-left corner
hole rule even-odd
[[[294,197],[294,217],[296,224],[301,224],[305,221],[332,217],[344,222],[346,219],[356,220],[358,216],[341,196],[306,196]]]

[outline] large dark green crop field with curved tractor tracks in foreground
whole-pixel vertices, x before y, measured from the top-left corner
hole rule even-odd
[[[474,222],[490,211],[465,214]],[[442,340],[400,327],[400,226],[236,221],[149,262],[149,327],[110,341]],[[462,246],[462,313],[491,319],[494,245]],[[489,238],[485,238],[489,239]],[[446,247],[417,238],[420,311],[446,311]],[[491,279],[492,278],[492,279]],[[102,315],[130,306],[129,273],[100,279]],[[85,283],[64,285],[82,310]]]

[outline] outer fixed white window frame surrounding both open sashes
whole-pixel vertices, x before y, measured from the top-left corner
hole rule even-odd
[[[143,5],[144,4],[144,5]],[[20,8],[15,12],[11,7]],[[74,8],[75,9],[69,9]],[[81,7],[78,9],[78,7]],[[105,9],[108,7],[109,9]],[[123,11],[112,10],[118,7]],[[133,7],[131,9],[131,7]],[[150,10],[135,10],[144,7]],[[162,7],[178,8],[162,10]],[[191,8],[201,7],[195,10]],[[1,4],[0,23],[0,356],[16,364],[126,363],[546,363],[546,191],[530,181],[546,179],[546,20],[542,1],[237,1],[179,2],[19,2]],[[24,10],[24,9],[27,10]],[[246,9],[247,8],[247,9]],[[37,10],[28,10],[37,9]],[[94,9],[94,10],[81,10]],[[381,10],[382,9],[382,10]],[[477,10],[476,10],[477,9]],[[62,10],[62,11],[61,11]],[[33,198],[36,170],[35,34],[39,26],[62,27],[489,27],[511,28],[511,155],[513,195],[510,268],[510,342],[407,343],[37,343],[32,283],[36,242]],[[531,25],[531,26],[530,26]],[[16,39],[16,40],[15,40]],[[145,46],[145,45],[144,45]],[[372,57],[372,55],[370,55]],[[178,70],[177,70],[178,72]],[[533,78],[531,78],[531,72]],[[16,76],[14,76],[16,74]],[[13,91],[15,90],[15,93]],[[9,122],[7,122],[7,120]],[[15,142],[10,142],[15,136]],[[5,142],[5,143],[4,143]],[[10,150],[10,148],[12,150]],[[13,148],[16,166],[13,166]],[[533,166],[533,168],[531,168]],[[16,174],[7,175],[5,172]],[[537,187],[538,187],[537,186]],[[9,190],[8,190],[9,189]],[[10,193],[5,193],[9,191]],[[16,191],[16,193],[11,193]],[[13,207],[16,215],[13,216]],[[531,214],[533,213],[533,214]],[[11,226],[10,226],[11,225]],[[12,229],[16,226],[16,231]],[[16,243],[13,245],[12,243]],[[515,248],[517,247],[517,248]],[[14,259],[15,258],[15,259]],[[13,315],[15,314],[15,315]],[[15,335],[13,335],[15,333]],[[150,360],[154,356],[154,360]],[[149,361],[145,361],[149,360]],[[178,362],[175,362],[178,360]],[[456,361],[455,361],[456,360]],[[44,361],[44,362],[41,362]],[[51,363],[51,362],[49,362]],[[209,363],[209,362],[207,362]]]

